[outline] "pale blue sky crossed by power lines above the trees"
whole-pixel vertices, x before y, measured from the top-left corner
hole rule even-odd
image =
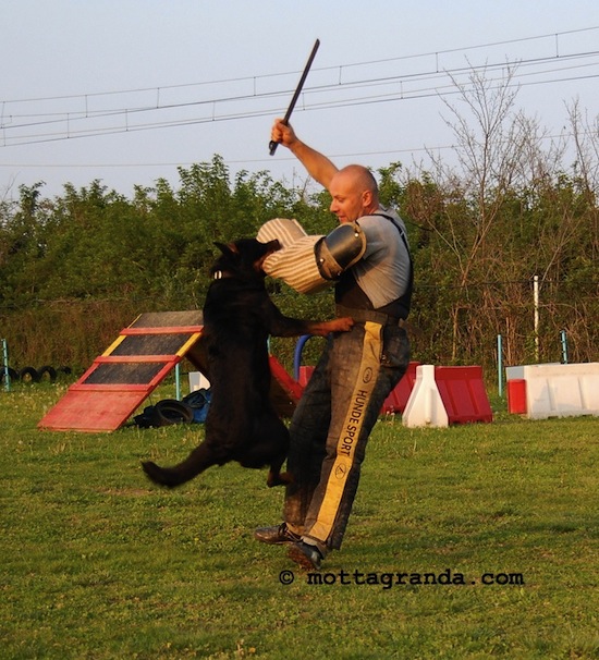
[[[96,179],[131,196],[159,178],[176,185],[178,166],[215,154],[232,172],[304,180],[268,142],[316,38],[292,123],[340,166],[409,164],[450,146],[447,72],[468,66],[521,62],[516,106],[549,134],[574,99],[599,113],[591,0],[0,0],[0,199]]]

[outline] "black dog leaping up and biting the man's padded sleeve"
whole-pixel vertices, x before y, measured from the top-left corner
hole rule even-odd
[[[242,239],[230,245],[215,243],[222,255],[212,266],[213,281],[204,305],[205,342],[211,403],[206,439],[173,467],[143,463],[156,484],[174,487],[211,465],[237,461],[244,467],[270,465],[269,487],[291,480],[281,474],[289,448],[289,431],[270,399],[267,340],[346,331],[351,318],[306,321],[283,316],[265,286],[264,260],[280,249],[279,241]]]

